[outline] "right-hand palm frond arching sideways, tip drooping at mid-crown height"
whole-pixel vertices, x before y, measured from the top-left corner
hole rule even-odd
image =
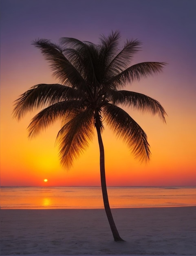
[[[138,92],[130,92],[126,90],[110,90],[110,101],[113,104],[122,104],[131,106],[142,112],[150,112],[152,115],[158,114],[159,117],[165,122],[165,116],[167,115],[164,108],[161,104],[152,99],[151,97],[146,96]]]

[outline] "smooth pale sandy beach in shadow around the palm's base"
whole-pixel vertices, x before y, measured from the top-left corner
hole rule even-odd
[[[1,255],[196,255],[196,207],[1,209]]]

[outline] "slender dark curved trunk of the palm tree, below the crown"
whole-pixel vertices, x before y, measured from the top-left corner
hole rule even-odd
[[[99,141],[99,149],[100,149],[100,173],[101,173],[101,189],[104,199],[104,208],[106,211],[106,215],[108,217],[108,222],[110,224],[110,228],[112,230],[112,234],[114,236],[115,241],[124,241],[117,230],[117,227],[115,225],[112,212],[110,209],[110,204],[108,200],[108,193],[107,193],[107,187],[106,187],[106,175],[105,175],[105,159],[104,159],[104,144],[101,138],[101,130],[100,127],[96,126],[97,129],[97,135],[98,135],[98,141]]]

